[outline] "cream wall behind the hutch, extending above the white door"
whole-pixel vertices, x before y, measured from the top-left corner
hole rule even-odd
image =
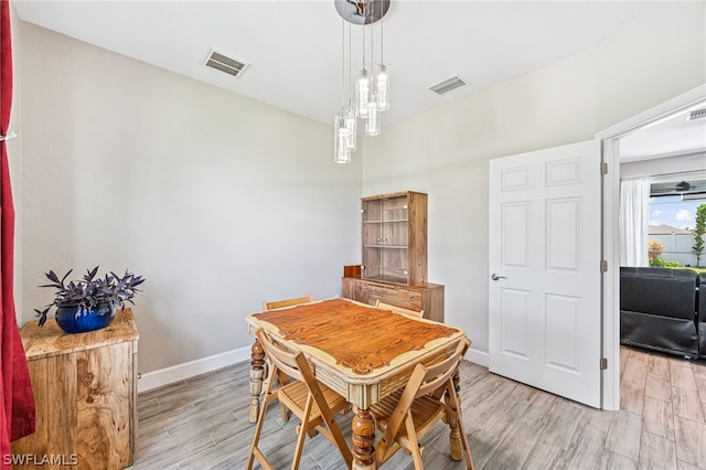
[[[429,194],[429,281],[473,357],[488,352],[489,160],[591,139],[706,83],[704,18],[703,2],[645,3],[592,50],[365,139],[363,194]]]

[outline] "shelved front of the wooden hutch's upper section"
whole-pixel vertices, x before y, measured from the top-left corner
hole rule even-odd
[[[408,197],[363,201],[363,270],[366,279],[408,284]]]

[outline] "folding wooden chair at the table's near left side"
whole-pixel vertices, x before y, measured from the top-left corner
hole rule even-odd
[[[255,428],[255,436],[253,437],[247,469],[252,469],[255,459],[257,459],[260,466],[274,470],[271,463],[258,446],[263,424],[265,423],[265,414],[267,413],[269,403],[274,399],[279,399],[280,405],[285,405],[301,420],[299,426],[297,426],[297,434],[299,436],[295,448],[295,457],[291,462],[292,470],[299,468],[301,451],[307,435],[311,436],[314,431],[319,431],[333,442],[339,449],[346,467],[351,468],[353,461],[351,449],[333,418],[335,413],[347,408],[349,403],[344,397],[317,381],[311,366],[301,351],[290,352],[281,349],[270,340],[263,329],[258,329],[255,335],[263,345],[265,354],[267,354],[272,362],[272,374],[282,371],[291,377],[292,381],[277,388],[272,387],[272,382],[268,384],[265,391],[265,399],[260,407],[257,427]]]

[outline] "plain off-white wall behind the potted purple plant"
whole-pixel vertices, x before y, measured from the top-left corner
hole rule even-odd
[[[143,275],[140,371],[253,343],[265,299],[340,292],[360,158],[332,129],[22,23],[24,320],[43,273]]]

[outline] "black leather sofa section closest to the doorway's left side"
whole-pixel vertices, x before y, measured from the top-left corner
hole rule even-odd
[[[706,356],[706,296],[699,299],[699,281],[706,286],[706,276],[699,279],[688,269],[621,267],[620,342]]]

